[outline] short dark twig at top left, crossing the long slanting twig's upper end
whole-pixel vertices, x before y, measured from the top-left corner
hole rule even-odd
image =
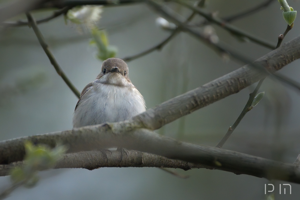
[[[39,20],[36,20],[36,24],[40,24],[40,23],[44,23],[44,22],[48,22],[56,17],[61,16],[62,14],[67,13],[67,11],[70,9],[70,7],[64,7],[58,11],[54,11],[50,16],[41,18]],[[6,27],[15,27],[15,26],[26,26],[28,25],[28,21],[16,21],[16,22],[2,22],[1,25],[6,26]]]

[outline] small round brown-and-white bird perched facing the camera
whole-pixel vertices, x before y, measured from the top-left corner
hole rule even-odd
[[[73,115],[73,128],[119,122],[146,111],[145,100],[118,58],[102,63],[101,73],[82,90]]]

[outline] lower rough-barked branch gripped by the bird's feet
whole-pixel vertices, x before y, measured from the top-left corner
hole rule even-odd
[[[179,168],[189,170],[192,168],[209,168],[201,164],[193,164],[182,160],[168,159],[151,153],[134,150],[101,150],[68,153],[58,161],[54,169],[59,168],[84,168],[94,170],[101,167],[158,167]],[[0,176],[10,175],[10,170],[23,166],[23,161],[13,162],[8,165],[0,165]]]

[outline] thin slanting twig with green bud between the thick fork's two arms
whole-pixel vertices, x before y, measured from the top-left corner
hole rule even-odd
[[[232,132],[235,130],[235,128],[238,126],[238,124],[241,122],[241,120],[243,119],[243,117],[246,115],[247,112],[250,111],[249,107],[251,105],[251,103],[253,102],[254,97],[257,94],[257,91],[259,90],[260,86],[262,85],[262,82],[265,79],[261,79],[259,81],[259,83],[257,84],[256,88],[254,89],[254,91],[252,93],[250,93],[249,95],[249,99],[244,107],[244,109],[242,110],[241,114],[238,116],[238,118],[235,120],[234,124],[232,126],[229,127],[227,133],[225,134],[225,136],[222,138],[222,140],[217,144],[216,147],[221,148],[224,143],[228,140],[228,138],[230,137],[230,135],[232,134]]]

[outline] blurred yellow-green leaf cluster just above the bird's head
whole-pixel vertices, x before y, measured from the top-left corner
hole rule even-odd
[[[109,45],[107,34],[104,30],[93,28],[91,30],[91,34],[93,39],[91,39],[90,44],[96,45],[96,47],[98,48],[98,59],[106,60],[108,58],[116,57],[117,48],[115,46]]]

